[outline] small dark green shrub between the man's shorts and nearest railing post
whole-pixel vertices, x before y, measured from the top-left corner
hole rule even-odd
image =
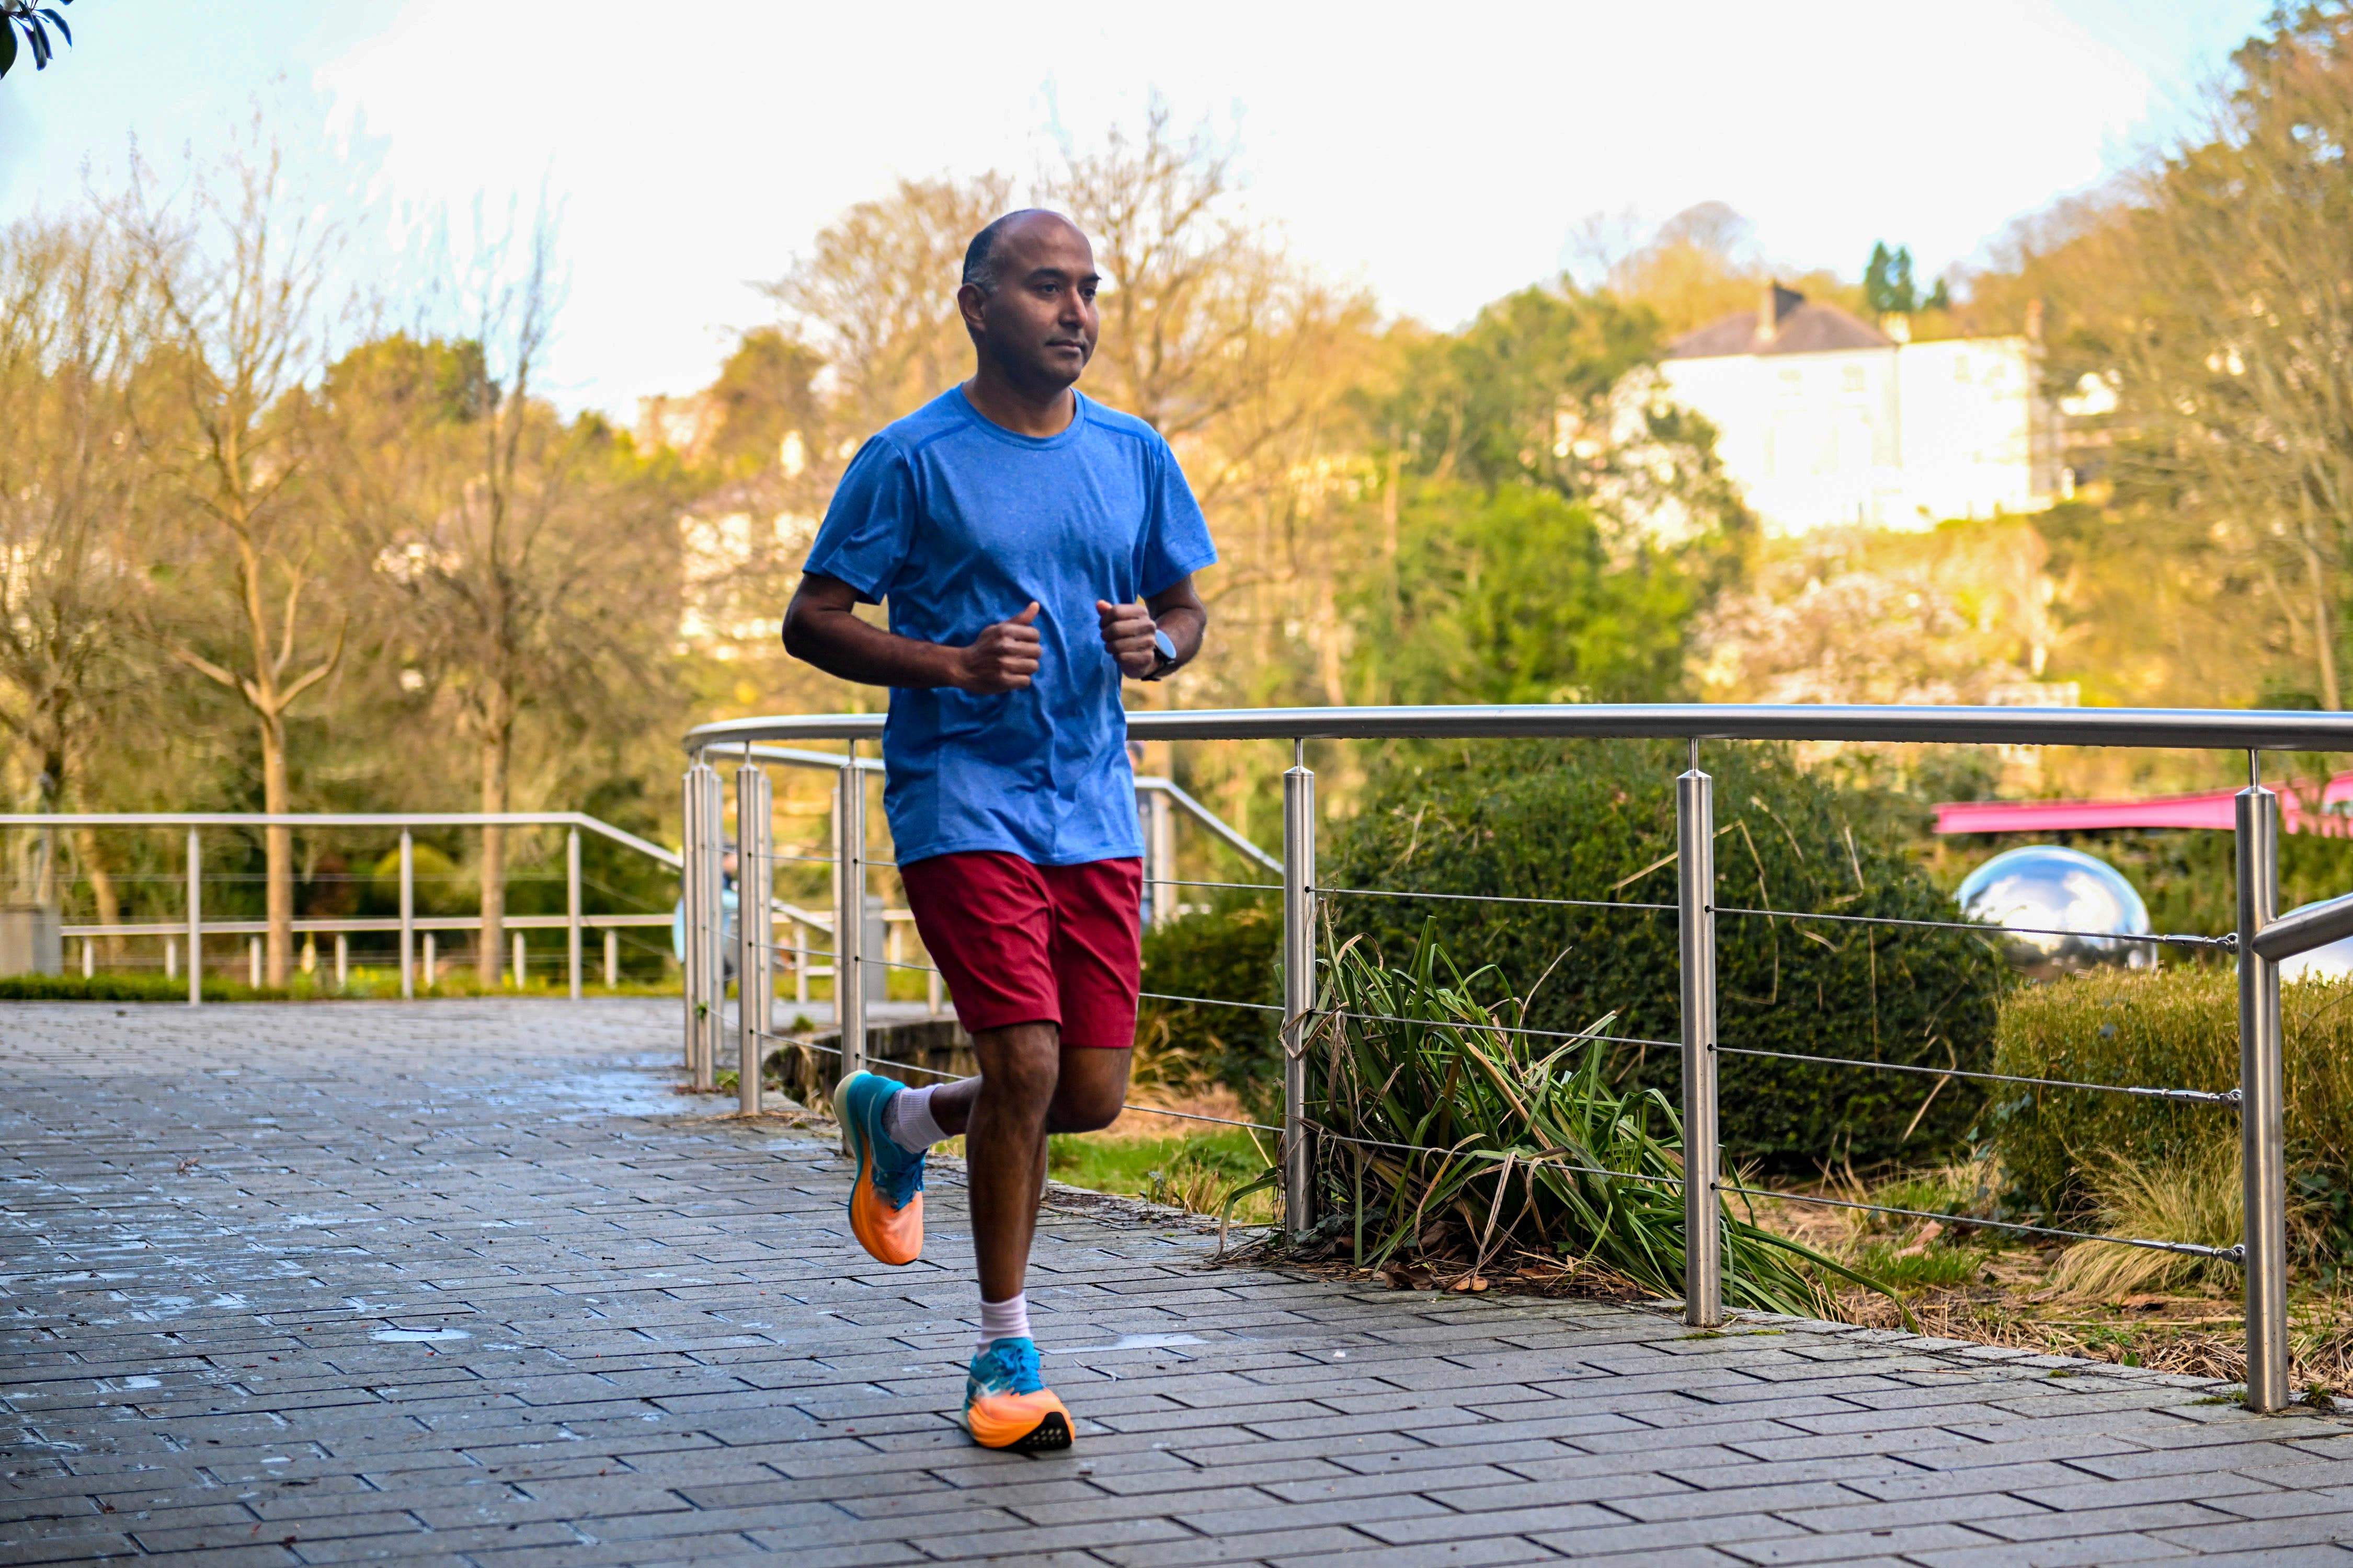
[[[1200,914],[1144,933],[1144,990],[1282,1004],[1282,900],[1226,893]],[[1136,1081],[1228,1084],[1259,1121],[1282,1114],[1278,1013],[1146,999],[1136,1013]]]

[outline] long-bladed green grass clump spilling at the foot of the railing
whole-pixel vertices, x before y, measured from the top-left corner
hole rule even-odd
[[[1358,1262],[1445,1248],[1464,1279],[1499,1260],[1595,1265],[1682,1293],[1682,1121],[1657,1088],[1617,1086],[1598,1018],[1532,1037],[1494,969],[1459,973],[1431,929],[1405,969],[1341,945],[1308,1039],[1322,1208]],[[1875,1281],[1722,1204],[1725,1305],[1824,1316],[1824,1276]]]

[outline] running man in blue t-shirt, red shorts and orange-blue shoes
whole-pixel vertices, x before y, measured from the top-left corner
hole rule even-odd
[[[965,1427],[988,1448],[1068,1448],[1031,1340],[1047,1133],[1127,1098],[1141,985],[1144,842],[1120,677],[1200,649],[1193,574],[1217,559],[1167,442],[1082,397],[1094,249],[1012,212],[965,252],[972,378],[887,425],[842,475],[784,646],[889,686],[882,806],[915,929],[981,1074],[932,1088],[856,1072],[833,1107],[856,1175],[849,1227],[882,1262],[922,1251],[922,1154],[965,1135],[981,1338]],[[887,604],[889,630],[856,604]]]

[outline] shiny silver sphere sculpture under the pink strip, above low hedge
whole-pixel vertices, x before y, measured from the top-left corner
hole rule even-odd
[[[2148,933],[2148,905],[2125,875],[2097,856],[2057,844],[2009,849],[1960,884],[1960,912],[2007,926],[2002,957],[2035,980],[2115,964],[2155,969],[2158,945],[2099,933]]]

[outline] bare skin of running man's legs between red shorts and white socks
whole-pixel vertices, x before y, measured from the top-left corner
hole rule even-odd
[[[1028,1274],[1045,1190],[1047,1133],[1111,1126],[1127,1095],[1129,1051],[1064,1046],[1052,1023],[1016,1023],[972,1037],[976,1079],[932,1095],[932,1119],[965,1135],[972,1171],[972,1253],[981,1300],[1009,1300]]]

